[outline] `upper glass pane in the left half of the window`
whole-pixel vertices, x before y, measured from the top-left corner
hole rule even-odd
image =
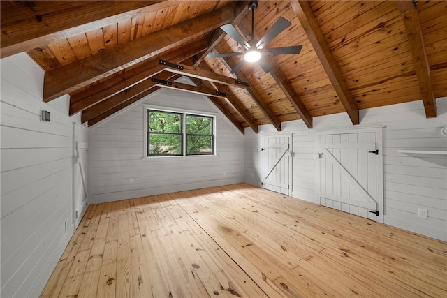
[[[149,133],[181,133],[182,114],[149,111]]]

